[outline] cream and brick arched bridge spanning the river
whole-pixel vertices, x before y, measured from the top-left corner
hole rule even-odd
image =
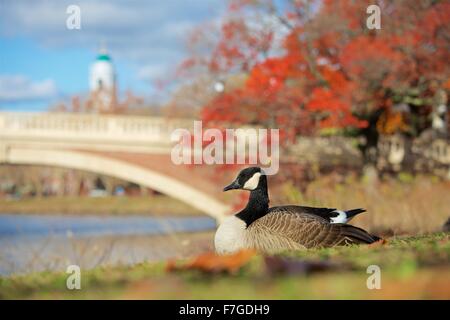
[[[231,207],[225,177],[212,167],[175,165],[177,128],[193,121],[67,113],[0,112],[0,164],[45,165],[90,171],[149,187],[220,220]]]

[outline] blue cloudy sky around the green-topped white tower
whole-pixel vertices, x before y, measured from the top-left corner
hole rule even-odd
[[[70,5],[81,10],[80,30],[66,26]],[[86,94],[102,44],[121,92],[163,97],[155,81],[186,56],[187,35],[224,11],[224,0],[0,0],[0,111],[42,111]]]

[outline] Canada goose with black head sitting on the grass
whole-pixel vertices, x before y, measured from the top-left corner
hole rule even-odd
[[[331,223],[332,219],[346,221],[363,209],[342,211],[343,214],[335,209],[293,205],[269,208],[267,177],[259,167],[242,170],[223,191],[233,189],[249,190],[250,198],[243,210],[225,218],[219,225],[214,238],[219,254],[241,249],[278,253],[380,240],[363,229]]]

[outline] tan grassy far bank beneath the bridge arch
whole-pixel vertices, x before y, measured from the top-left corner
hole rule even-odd
[[[200,211],[176,199],[147,197],[48,197],[0,199],[0,213],[96,214],[96,215],[200,215]]]

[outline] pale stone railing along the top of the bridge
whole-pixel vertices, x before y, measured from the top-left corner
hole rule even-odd
[[[190,127],[191,120],[161,117],[0,112],[4,137],[170,142],[173,130]]]

